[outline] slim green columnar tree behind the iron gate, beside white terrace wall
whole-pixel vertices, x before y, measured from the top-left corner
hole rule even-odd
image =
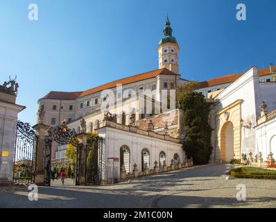
[[[94,176],[98,174],[98,133],[91,133],[87,137],[89,152],[87,156],[87,182],[94,181]]]

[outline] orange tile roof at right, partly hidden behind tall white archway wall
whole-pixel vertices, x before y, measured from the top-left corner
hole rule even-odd
[[[273,67],[272,71],[276,72],[276,67]],[[258,72],[259,76],[267,76],[267,75],[271,74],[270,68],[259,69],[257,72]],[[212,87],[215,85],[221,85],[221,84],[225,84],[225,83],[233,83],[238,78],[240,78],[242,75],[243,74],[230,74],[227,76],[222,76],[222,77],[206,80],[206,81],[200,83],[200,88]]]

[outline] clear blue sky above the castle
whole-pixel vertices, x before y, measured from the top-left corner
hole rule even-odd
[[[28,20],[37,3],[39,20]],[[236,20],[245,3],[247,20]],[[206,80],[276,65],[275,0],[0,0],[0,82],[17,75],[21,121],[49,91],[83,91],[157,69],[167,13],[182,78]]]

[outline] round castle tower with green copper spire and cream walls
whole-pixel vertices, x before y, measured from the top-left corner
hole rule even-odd
[[[173,29],[171,28],[169,17],[166,17],[163,33],[164,36],[162,40],[160,40],[157,48],[159,69],[166,68],[173,71],[175,74],[179,74],[178,51],[180,47],[175,37],[172,36]]]

